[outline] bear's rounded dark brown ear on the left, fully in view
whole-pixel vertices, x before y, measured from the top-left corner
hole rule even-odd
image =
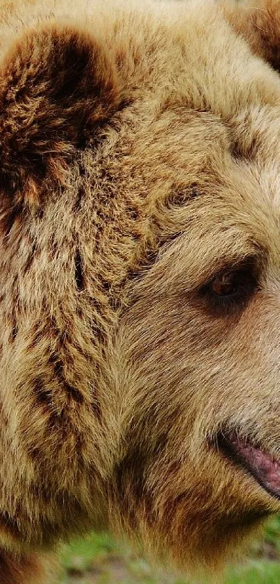
[[[0,64],[0,189],[38,203],[120,104],[106,47],[71,24],[29,30]]]

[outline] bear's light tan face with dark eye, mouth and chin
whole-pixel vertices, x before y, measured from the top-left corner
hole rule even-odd
[[[168,149],[181,120],[156,186],[166,205],[151,212],[160,249],[132,278],[117,333],[116,491],[131,530],[148,525],[183,563],[215,563],[279,505],[279,172],[234,157],[208,114],[186,118],[166,132]],[[157,149],[154,137],[143,173]]]

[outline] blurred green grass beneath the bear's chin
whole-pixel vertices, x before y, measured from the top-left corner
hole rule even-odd
[[[92,534],[64,546],[60,584],[190,584],[178,576],[156,574],[144,559],[107,534]],[[269,523],[242,564],[229,569],[224,584],[280,584],[280,516]],[[204,584],[203,582],[199,584]]]

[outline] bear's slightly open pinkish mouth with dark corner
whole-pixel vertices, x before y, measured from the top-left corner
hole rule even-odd
[[[280,460],[235,432],[221,432],[217,445],[227,458],[249,472],[267,493],[280,499]]]

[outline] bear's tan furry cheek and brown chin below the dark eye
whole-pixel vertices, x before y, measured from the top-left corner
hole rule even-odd
[[[188,549],[213,560],[214,544],[227,554],[279,509],[268,491],[278,478],[265,455],[279,449],[276,304],[256,294],[226,322],[188,299],[149,299],[146,310],[135,303],[120,328],[124,451],[115,467],[115,508],[126,529],[153,526],[154,545],[163,554],[168,546],[177,560]],[[261,444],[251,458],[267,473],[265,488],[249,462],[224,452],[226,432]]]

